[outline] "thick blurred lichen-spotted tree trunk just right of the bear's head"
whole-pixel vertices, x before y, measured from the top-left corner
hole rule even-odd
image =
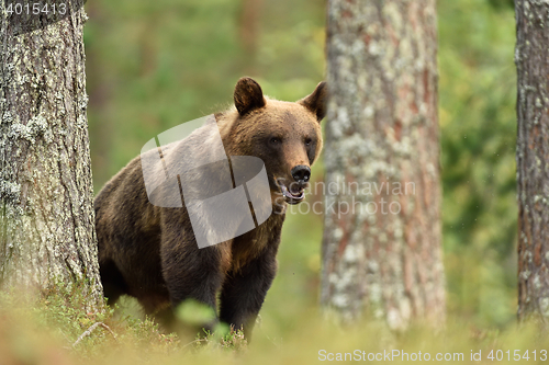
[[[328,0],[321,303],[445,319],[435,0]]]

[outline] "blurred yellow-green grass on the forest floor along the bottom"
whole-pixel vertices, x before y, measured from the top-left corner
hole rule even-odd
[[[242,332],[216,333],[188,339],[163,333],[149,319],[133,316],[87,313],[80,310],[86,297],[56,289],[32,308],[14,299],[2,299],[0,312],[1,364],[315,364],[324,358],[378,357],[395,363],[415,363],[429,356],[446,363],[544,363],[549,338],[537,324],[509,326],[505,330],[482,330],[460,318],[450,318],[444,329],[422,326],[394,333],[373,319],[351,327],[336,326],[316,312],[288,313],[281,338],[270,337],[270,321],[258,323],[250,344]],[[264,313],[264,317],[266,313]],[[105,323],[77,339],[93,323]],[[508,353],[507,353],[508,351]],[[536,361],[534,361],[536,351]],[[407,355],[404,355],[406,353]],[[346,355],[347,354],[347,355]],[[421,355],[419,355],[421,354]],[[494,360],[490,360],[489,356]],[[525,356],[528,355],[529,360]],[[408,356],[406,360],[406,356]],[[471,361],[471,356],[480,362]],[[501,358],[501,361],[497,361]]]

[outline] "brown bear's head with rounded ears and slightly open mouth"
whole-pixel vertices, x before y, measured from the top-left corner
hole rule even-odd
[[[280,196],[289,204],[304,199],[311,166],[322,149],[326,99],[325,82],[296,102],[265,96],[251,78],[236,83],[236,111],[225,148],[229,155],[255,156],[264,161],[273,204]]]

